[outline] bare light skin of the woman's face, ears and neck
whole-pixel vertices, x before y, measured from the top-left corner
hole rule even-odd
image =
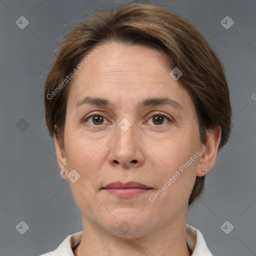
[[[62,178],[69,180],[72,169],[80,175],[70,182],[83,231],[73,253],[191,255],[185,240],[188,198],[196,176],[205,175],[215,163],[221,129],[208,130],[207,142],[200,142],[192,99],[169,75],[172,68],[161,52],[116,42],[96,48],[98,53],[72,79],[64,146],[54,137],[58,164],[65,170]],[[85,96],[106,98],[114,107],[75,107]],[[138,106],[147,97],[166,96],[183,110],[169,105]],[[169,120],[156,114],[160,121],[154,121],[155,111],[165,113]],[[86,119],[92,113],[104,117],[100,124],[93,117]],[[127,131],[118,126],[123,118],[131,124]],[[150,202],[149,196],[197,151],[200,156]],[[152,189],[130,198],[101,189],[110,182],[131,180]],[[127,233],[118,228],[123,221],[130,226]]]

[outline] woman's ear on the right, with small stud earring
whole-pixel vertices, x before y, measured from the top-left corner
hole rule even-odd
[[[215,164],[220,139],[221,127],[219,125],[207,130],[207,141],[201,147],[201,158],[198,161],[196,176],[204,176]],[[204,169],[203,172],[201,168]]]

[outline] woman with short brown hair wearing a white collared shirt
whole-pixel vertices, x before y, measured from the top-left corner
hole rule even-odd
[[[231,108],[196,28],[151,3],[91,15],[60,45],[44,92],[82,222],[51,256],[212,255],[186,214],[228,140]]]

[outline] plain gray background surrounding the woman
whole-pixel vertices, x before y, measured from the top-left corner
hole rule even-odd
[[[81,230],[80,212],[60,177],[45,126],[43,82],[64,33],[87,11],[111,2],[121,1],[0,1],[1,256],[45,253]],[[231,137],[206,176],[204,196],[189,209],[187,223],[202,232],[213,255],[256,255],[256,1],[155,2],[188,18],[209,40],[230,88]],[[21,15],[29,21],[24,29],[15,23]],[[220,23],[227,15],[234,21],[229,29]],[[234,226],[229,234],[220,228],[226,220]],[[29,226],[24,234],[16,229],[20,221]]]

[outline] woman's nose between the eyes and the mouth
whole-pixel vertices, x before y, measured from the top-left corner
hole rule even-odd
[[[143,146],[139,132],[133,124],[126,131],[116,126],[116,134],[111,140],[108,155],[109,163],[120,168],[138,167],[145,161]]]

